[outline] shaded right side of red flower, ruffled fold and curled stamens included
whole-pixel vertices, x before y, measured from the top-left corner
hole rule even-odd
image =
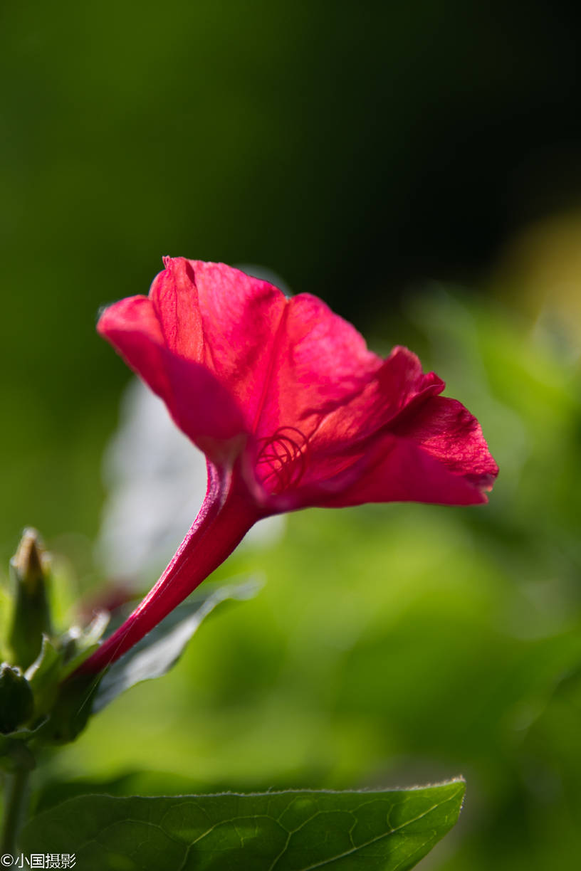
[[[395,348],[361,393],[325,415],[310,437],[278,431],[268,442],[270,463],[254,461],[255,498],[273,511],[486,502],[497,464],[476,418],[437,395],[443,387],[434,373],[423,375],[415,354]],[[261,460],[264,449],[255,453]]]

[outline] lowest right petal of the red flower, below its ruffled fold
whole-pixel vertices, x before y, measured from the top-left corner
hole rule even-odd
[[[367,502],[487,502],[484,491],[491,489],[498,469],[476,418],[460,402],[430,395],[429,387],[416,396],[368,438],[327,445],[314,440],[301,457],[304,471],[298,485],[269,492],[273,481],[283,477],[275,469],[278,478],[263,476],[256,498],[269,510]],[[286,480],[293,480],[292,470],[284,473]]]

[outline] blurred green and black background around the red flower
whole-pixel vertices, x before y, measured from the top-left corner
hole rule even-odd
[[[111,579],[130,376],[94,325],[167,253],[270,268],[408,344],[501,467],[487,507],[310,510],[249,544],[220,577],[260,595],[55,756],[40,807],[463,773],[422,867],[578,868],[578,33],[545,0],[2,4],[4,565],[34,524],[62,583]]]

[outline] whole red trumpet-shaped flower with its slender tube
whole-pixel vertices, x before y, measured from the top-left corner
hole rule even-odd
[[[261,517],[309,505],[486,502],[497,476],[476,418],[415,354],[386,360],[309,294],[221,263],[166,258],[148,297],[98,331],[204,451],[199,515],[152,591],[85,663],[98,672],[159,623]]]

